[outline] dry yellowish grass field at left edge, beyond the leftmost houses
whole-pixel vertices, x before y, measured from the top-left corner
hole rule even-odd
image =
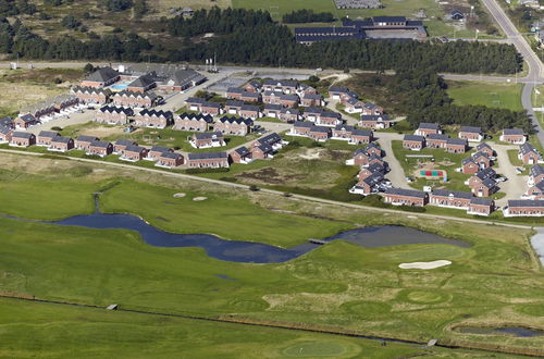
[[[0,117],[14,116],[20,110],[47,98],[65,94],[83,71],[67,69],[0,70]],[[54,84],[54,79],[62,81]]]

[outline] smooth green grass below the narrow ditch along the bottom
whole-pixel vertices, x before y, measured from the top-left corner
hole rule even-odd
[[[478,351],[396,343],[382,346],[378,341],[13,299],[0,299],[0,331],[5,338],[0,343],[0,355],[11,358],[484,356]]]

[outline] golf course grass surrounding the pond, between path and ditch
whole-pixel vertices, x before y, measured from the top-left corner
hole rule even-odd
[[[51,198],[55,198],[60,187],[72,194],[75,187],[87,184],[87,198],[91,198],[94,190],[109,188],[101,195],[104,211],[141,215],[163,230],[176,232],[206,231],[226,238],[232,235],[287,244],[282,237],[296,237],[301,243],[309,235],[323,236],[324,231],[338,231],[349,223],[406,224],[472,246],[364,248],[334,242],[286,263],[244,264],[211,259],[198,248],[148,246],[129,231],[60,227],[0,218],[3,248],[0,262],[5,264],[0,283],[4,294],[98,306],[114,302],[127,309],[286,325],[304,323],[310,327],[421,342],[438,338],[452,345],[462,341],[490,348],[526,347],[526,350],[544,345],[542,337],[450,331],[452,326],[461,324],[542,327],[544,274],[529,247],[529,231],[316,206],[294,199],[277,201],[277,196],[264,193],[239,193],[211,184],[180,183],[157,174],[94,165],[85,165],[91,169],[90,173],[78,170],[79,177],[74,181],[65,174],[73,165],[69,161],[30,160],[38,163],[28,168],[16,156],[2,156],[0,160],[3,168],[10,169],[4,170],[0,193],[12,198],[11,214],[51,218],[46,208],[38,206],[36,210],[23,200],[14,200],[28,188],[39,188],[35,201],[47,200],[49,206],[57,207],[59,216],[72,215],[73,205],[81,201],[83,195],[66,195],[60,200]],[[133,176],[135,178],[126,180]],[[48,181],[58,182],[59,187],[53,188]],[[157,185],[150,185],[149,181]],[[4,190],[8,183],[11,187]],[[175,193],[187,196],[174,198]],[[191,198],[196,195],[206,196],[208,200],[195,202]],[[316,215],[322,219],[311,218]],[[158,216],[168,221],[158,221]],[[290,220],[286,221],[286,216]],[[288,240],[295,243],[293,238]],[[436,259],[447,259],[453,264],[424,273],[398,269],[401,262]],[[234,280],[223,280],[218,274]],[[95,327],[107,326],[104,321],[108,322],[102,319]],[[121,321],[126,323],[128,319]],[[58,333],[55,325],[52,329],[49,325],[47,334],[44,331],[42,326],[32,330],[40,342],[42,336],[50,338]],[[70,343],[59,341],[58,345]],[[108,345],[107,339],[101,343]]]

